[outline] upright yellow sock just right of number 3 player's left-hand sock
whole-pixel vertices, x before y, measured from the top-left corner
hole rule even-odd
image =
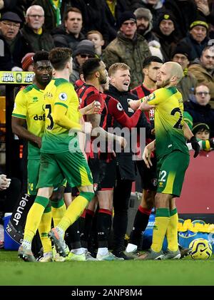
[[[43,252],[52,252],[51,239],[49,239],[48,233],[51,230],[51,207],[46,207],[44,214],[41,217],[39,223],[39,236],[43,247]]]

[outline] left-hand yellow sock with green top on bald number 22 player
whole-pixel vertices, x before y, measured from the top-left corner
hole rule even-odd
[[[153,228],[153,243],[151,249],[155,252],[160,252],[163,247],[163,239],[168,228],[170,220],[168,208],[158,208],[156,210],[156,220]]]

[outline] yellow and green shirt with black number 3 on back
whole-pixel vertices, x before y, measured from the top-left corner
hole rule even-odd
[[[56,105],[63,105],[66,116],[76,123],[79,123],[78,95],[73,85],[63,78],[52,79],[44,90],[44,103],[46,110],[46,125],[42,138],[41,152],[58,153],[68,151],[71,139],[76,133],[69,133],[69,130],[54,124],[53,113]]]

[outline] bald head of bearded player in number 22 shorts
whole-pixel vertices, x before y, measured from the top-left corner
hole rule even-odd
[[[165,88],[169,86],[177,86],[183,78],[183,68],[179,63],[168,61],[163,63],[158,73],[157,88]]]

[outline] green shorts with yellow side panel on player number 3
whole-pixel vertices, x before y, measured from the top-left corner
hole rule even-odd
[[[37,188],[55,187],[66,178],[71,187],[93,183],[91,170],[81,151],[41,153]]]

